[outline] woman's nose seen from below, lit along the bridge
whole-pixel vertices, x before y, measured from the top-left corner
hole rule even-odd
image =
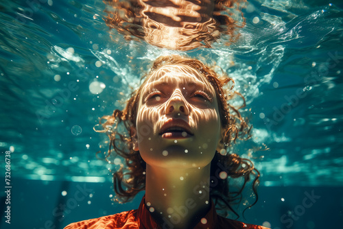
[[[184,115],[189,115],[187,101],[185,101],[185,97],[183,97],[181,91],[175,91],[167,101],[167,105],[165,106],[165,115],[169,115],[172,112],[182,112]]]

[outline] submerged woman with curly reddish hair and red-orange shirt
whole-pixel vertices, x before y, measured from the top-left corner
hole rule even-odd
[[[158,58],[126,108],[104,117],[110,145],[128,167],[114,174],[115,192],[127,202],[145,189],[139,208],[66,229],[264,228],[226,219],[215,210],[233,211],[231,204],[241,200],[248,180],[254,177],[255,193],[259,182],[250,160],[226,154],[230,143],[250,130],[227,103],[223,86],[230,81],[198,60]],[[130,134],[110,131],[120,123]],[[229,192],[229,177],[244,178],[239,191]]]

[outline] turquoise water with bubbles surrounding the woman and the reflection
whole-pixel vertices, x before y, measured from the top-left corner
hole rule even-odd
[[[1,217],[1,228],[61,228],[135,208],[138,199],[110,202],[108,170],[121,161],[95,158],[106,143],[93,126],[123,108],[153,60],[171,53],[216,64],[246,97],[254,136],[233,150],[251,153],[262,174],[261,200],[247,222],[312,229],[327,227],[323,214],[331,226],[343,219],[340,1],[249,1],[237,43],[182,52],[110,34],[104,8],[102,1],[0,1],[0,183],[2,190],[10,151],[13,209],[12,224]],[[265,145],[269,150],[248,151]],[[78,185],[92,190],[77,203],[82,207],[54,211]],[[320,199],[300,212],[312,191]],[[1,194],[0,210],[3,200]]]

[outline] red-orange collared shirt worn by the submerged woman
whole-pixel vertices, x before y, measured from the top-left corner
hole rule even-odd
[[[145,196],[137,210],[128,210],[115,215],[88,219],[73,224],[69,224],[64,229],[172,229],[169,221],[163,225],[158,225],[152,217],[150,211],[145,206]],[[206,220],[205,220],[206,219]],[[194,229],[268,229],[263,226],[244,224],[233,219],[226,219],[217,215],[215,206],[211,202],[211,209],[198,222]]]

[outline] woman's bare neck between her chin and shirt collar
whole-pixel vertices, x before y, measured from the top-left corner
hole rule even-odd
[[[210,165],[165,169],[147,165],[145,204],[165,228],[193,228],[211,206]]]

